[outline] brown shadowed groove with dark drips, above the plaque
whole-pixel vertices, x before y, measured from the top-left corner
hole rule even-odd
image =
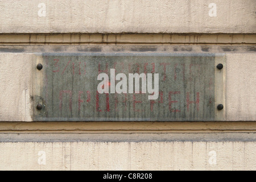
[[[0,34],[0,44],[255,44],[256,34]]]

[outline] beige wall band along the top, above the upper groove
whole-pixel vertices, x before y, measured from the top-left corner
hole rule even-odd
[[[3,0],[0,33],[255,33],[255,6],[254,0]]]

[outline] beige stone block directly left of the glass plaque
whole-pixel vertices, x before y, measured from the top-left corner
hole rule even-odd
[[[31,121],[31,63],[29,53],[0,53],[1,121]]]

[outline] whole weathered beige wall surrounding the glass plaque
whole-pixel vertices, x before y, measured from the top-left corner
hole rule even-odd
[[[255,0],[2,0],[0,12],[0,170],[256,169]],[[226,53],[226,121],[32,122],[33,53],[106,44]]]

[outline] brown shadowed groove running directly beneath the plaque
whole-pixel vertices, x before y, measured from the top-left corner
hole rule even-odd
[[[3,122],[0,133],[254,133],[255,122]]]

